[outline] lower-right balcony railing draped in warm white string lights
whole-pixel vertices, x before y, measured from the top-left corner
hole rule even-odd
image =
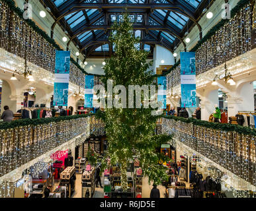
[[[242,127],[234,126],[236,129],[230,131],[228,124],[222,124],[222,129],[218,129],[218,123],[207,123],[207,127],[204,127],[203,123],[204,121],[198,121],[198,124],[194,124],[177,117],[162,118],[162,133],[175,135],[176,140],[195,152],[256,185],[256,136],[253,135],[255,131],[251,130],[250,134],[250,129],[244,129],[246,133],[239,133],[238,130],[242,130]],[[213,124],[212,128],[209,124]]]

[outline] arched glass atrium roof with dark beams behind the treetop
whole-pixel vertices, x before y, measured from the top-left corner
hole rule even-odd
[[[56,7],[51,9],[55,9],[58,14],[63,15],[64,27],[69,27],[69,36],[73,37],[73,41],[85,51],[87,51],[85,45],[90,42],[95,42],[98,39],[107,40],[106,36],[102,38],[103,34],[109,36],[110,25],[115,21],[122,20],[124,7],[129,7],[129,5],[138,5],[138,7],[128,8],[128,12],[130,13],[131,22],[134,23],[136,36],[140,36],[142,42],[144,42],[144,45],[140,47],[150,50],[151,47],[148,45],[150,42],[159,42],[159,44],[172,49],[173,45],[179,43],[183,38],[188,28],[187,24],[198,19],[194,16],[198,6],[202,3],[204,5],[208,4],[208,0],[176,0],[174,3],[169,0],[153,0],[153,3],[149,0],[106,0],[105,3],[100,0],[85,0],[80,1],[80,3],[75,0],[45,1],[48,7],[53,6],[47,2],[52,1],[54,3]],[[73,5],[77,6],[77,3],[81,5],[74,7]],[[113,4],[115,4],[114,7],[110,7]],[[147,4],[151,7],[150,13],[148,13],[149,7],[146,7]],[[171,7],[173,4],[175,4],[175,7]],[[99,8],[97,9],[97,7]],[[66,13],[67,15],[65,15]],[[58,16],[55,18],[58,18]],[[107,20],[105,20],[106,18]],[[137,30],[136,27],[140,30]],[[148,44],[145,44],[145,42]],[[97,45],[99,46],[99,44]],[[103,44],[100,47],[95,46],[93,51],[109,51],[110,46],[107,46],[108,44]]]

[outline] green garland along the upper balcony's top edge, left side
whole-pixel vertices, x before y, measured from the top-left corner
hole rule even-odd
[[[16,7],[15,2],[13,0],[0,0],[0,1],[3,1],[3,2],[7,3],[9,8],[11,9],[11,11],[14,11],[15,13],[17,13],[17,15],[22,20],[27,22],[28,25],[31,26],[33,28],[33,30],[35,32],[37,32],[40,36],[42,36],[48,43],[52,44],[57,50],[59,50],[59,51],[62,50],[60,48],[60,46],[55,42],[54,39],[50,38],[48,36],[48,34],[46,34],[46,32],[44,32],[42,29],[40,29],[38,26],[36,26],[36,23],[34,21],[32,21],[30,19],[24,19],[23,18],[24,11],[21,10],[19,7]],[[85,74],[85,75],[95,75],[95,74],[87,73],[83,68],[81,68],[81,66],[73,58],[71,58],[70,60],[80,71],[82,71],[83,74]],[[100,75],[95,75],[95,76],[100,76]]]

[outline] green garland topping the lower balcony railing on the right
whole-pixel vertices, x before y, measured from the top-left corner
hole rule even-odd
[[[222,131],[235,131],[237,133],[244,134],[244,135],[256,136],[256,129],[251,129],[249,127],[242,127],[240,125],[232,125],[228,123],[212,123],[209,121],[202,121],[202,120],[193,119],[193,118],[186,119],[183,117],[175,117],[170,115],[162,115],[162,117],[165,119],[182,121],[183,123],[188,123],[188,124],[192,123],[193,125],[207,127],[210,129],[216,129],[216,130],[222,130]]]

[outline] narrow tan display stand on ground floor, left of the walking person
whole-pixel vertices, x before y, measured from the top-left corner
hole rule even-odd
[[[82,198],[93,198],[95,193],[95,167],[91,167],[91,171],[83,171],[81,183]]]

